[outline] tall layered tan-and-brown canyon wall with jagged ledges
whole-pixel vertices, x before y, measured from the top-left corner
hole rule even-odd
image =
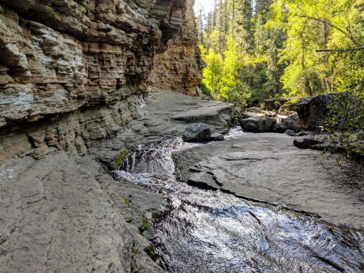
[[[196,95],[192,0],[0,0],[0,161],[84,154],[148,86]]]

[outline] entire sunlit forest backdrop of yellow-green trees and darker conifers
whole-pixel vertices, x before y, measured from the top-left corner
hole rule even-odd
[[[200,20],[203,82],[250,104],[343,92],[364,81],[363,22],[363,0],[219,0]]]

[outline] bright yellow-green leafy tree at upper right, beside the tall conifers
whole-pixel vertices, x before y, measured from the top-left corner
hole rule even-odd
[[[271,6],[267,27],[287,35],[279,50],[283,89],[290,96],[344,91],[364,78],[362,0],[283,0]],[[317,52],[321,48],[343,48]],[[354,54],[353,54],[354,53]],[[355,55],[355,56],[354,56]]]

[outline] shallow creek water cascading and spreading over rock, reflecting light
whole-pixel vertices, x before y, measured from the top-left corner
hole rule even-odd
[[[244,137],[232,128],[228,137]],[[167,272],[363,272],[364,232],[281,206],[203,190],[175,176],[181,138],[139,145],[116,174],[166,199],[151,216],[156,260]]]

